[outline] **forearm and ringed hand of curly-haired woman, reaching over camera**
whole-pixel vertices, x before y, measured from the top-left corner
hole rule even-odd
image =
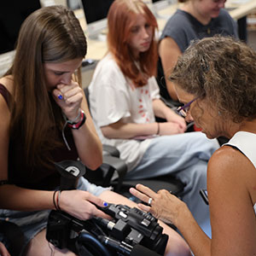
[[[195,256],[211,255],[210,238],[201,230],[183,201],[167,190],[160,190],[155,193],[142,184],[137,184],[136,189],[132,188],[130,192],[145,202],[148,202],[149,197],[153,198],[151,207],[143,204],[138,206],[146,212],[151,212],[154,217],[166,223],[174,224],[188,242]]]

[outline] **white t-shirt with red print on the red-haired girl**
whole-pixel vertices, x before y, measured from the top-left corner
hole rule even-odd
[[[99,127],[113,124],[120,119],[124,123],[155,122],[153,99],[160,98],[159,87],[154,77],[148,84],[136,88],[125,78],[111,54],[100,61],[89,85],[90,112],[102,143],[119,149],[128,172],[137,166],[148,148],[150,139],[108,139]]]

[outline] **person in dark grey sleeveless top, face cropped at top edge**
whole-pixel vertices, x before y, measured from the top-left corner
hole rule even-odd
[[[191,41],[216,34],[237,38],[236,22],[224,9],[226,0],[178,0],[180,9],[166,22],[159,40],[158,83],[160,94],[178,105],[177,94],[166,73]]]

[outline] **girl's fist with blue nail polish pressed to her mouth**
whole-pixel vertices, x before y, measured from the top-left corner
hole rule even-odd
[[[53,96],[67,119],[74,120],[79,116],[84,94],[78,83],[71,81],[71,84],[58,84]]]

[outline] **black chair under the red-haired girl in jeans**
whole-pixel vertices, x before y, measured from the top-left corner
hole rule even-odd
[[[89,90],[86,87],[84,94],[89,102]],[[118,178],[113,180],[113,173],[117,172]],[[137,183],[142,183],[157,192],[159,189],[166,189],[172,191],[173,195],[180,195],[183,192],[185,186],[179,179],[173,175],[165,175],[160,177],[145,178],[138,180],[127,180],[125,174],[127,172],[127,166],[124,160],[119,158],[119,151],[112,146],[103,145],[103,164],[96,171],[91,171],[88,168],[84,177],[86,177],[91,183],[96,183],[102,186],[112,186],[113,191],[125,195],[133,201],[137,201],[130,192],[131,187],[135,187]]]

